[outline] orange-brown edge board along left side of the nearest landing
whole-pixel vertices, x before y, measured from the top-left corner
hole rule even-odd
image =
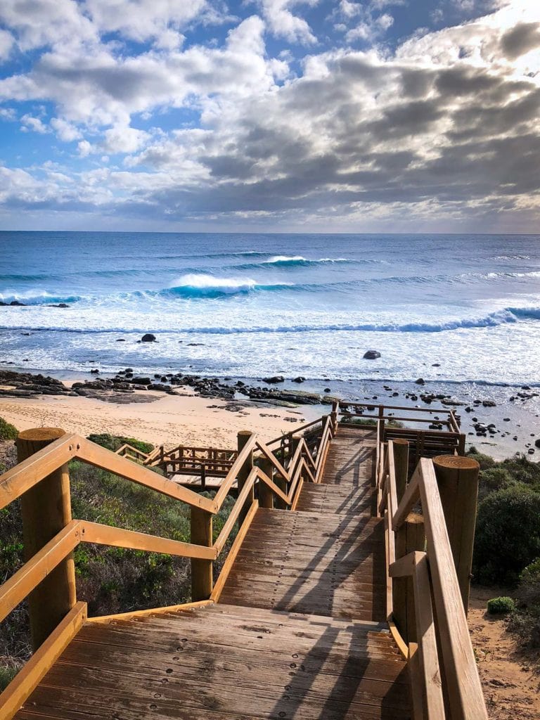
[[[0,695],[0,716],[11,720],[86,620],[86,603],[76,603]]]

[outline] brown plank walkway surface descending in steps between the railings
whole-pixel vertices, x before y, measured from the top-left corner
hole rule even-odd
[[[85,624],[16,718],[410,718],[384,622],[374,444],[340,429],[297,511],[256,511],[217,604]]]

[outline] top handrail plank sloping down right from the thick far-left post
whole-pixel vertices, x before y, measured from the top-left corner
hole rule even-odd
[[[193,490],[188,490],[186,487],[176,485],[176,482],[166,480],[166,478],[143,467],[143,465],[138,465],[123,457],[119,457],[115,455],[114,452],[106,450],[85,438],[77,436],[76,444],[79,446],[76,450],[76,457],[90,465],[94,465],[94,467],[100,467],[108,472],[113,472],[115,475],[125,477],[126,480],[136,482],[138,485],[150,487],[151,490],[161,492],[162,495],[168,495],[169,498],[181,500],[182,503],[207,510],[209,513],[217,513],[219,509],[217,508],[215,500],[209,500],[208,498],[204,498],[203,495],[197,495],[197,492],[193,492]]]

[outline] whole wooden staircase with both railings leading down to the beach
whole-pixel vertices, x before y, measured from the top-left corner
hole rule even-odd
[[[338,410],[267,444],[239,433],[213,498],[86,438],[22,433],[0,509],[23,498],[27,518],[50,523],[0,585],[0,620],[30,596],[36,647],[1,693],[0,719],[487,720],[433,462],[406,477],[384,412],[362,428],[341,424]],[[465,472],[466,459],[446,457],[447,473]],[[71,519],[71,459],[188,504],[191,542]],[[418,503],[422,541],[403,549]],[[87,618],[71,561],[81,543],[189,558],[194,602]]]

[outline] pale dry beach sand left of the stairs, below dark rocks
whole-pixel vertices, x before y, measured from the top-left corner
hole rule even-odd
[[[304,421],[315,420],[320,408],[246,408],[240,412],[225,410],[224,400],[210,400],[192,395],[157,395],[153,402],[116,404],[89,397],[55,397],[0,400],[0,417],[19,430],[35,427],[57,427],[80,435],[111,433],[154,445],[173,447],[179,444],[234,448],[236,433],[251,430],[265,441],[294,431]],[[142,394],[142,393],[138,393]]]

